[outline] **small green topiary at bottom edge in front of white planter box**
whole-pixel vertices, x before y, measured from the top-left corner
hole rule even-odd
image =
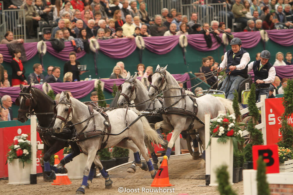
[[[217,182],[219,184],[218,191],[221,195],[236,195],[229,184],[229,173],[227,172],[227,165],[222,165],[217,168]]]

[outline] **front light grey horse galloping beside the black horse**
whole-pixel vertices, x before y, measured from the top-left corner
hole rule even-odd
[[[88,187],[88,173],[93,162],[100,170],[101,175],[105,178],[105,187],[110,189],[113,182],[110,180],[107,171],[104,170],[96,155],[97,151],[101,149],[103,131],[106,131],[110,124],[112,127],[111,134],[119,134],[123,129],[126,129],[126,121],[131,124],[138,118],[138,115],[134,111],[125,108],[118,108],[112,111],[107,111],[109,117],[107,119],[102,116],[102,110],[92,110],[79,100],[71,98],[68,93],[65,96],[64,92],[60,95],[59,104],[56,109],[57,117],[54,124],[55,132],[62,132],[65,125],[64,123],[66,123],[68,119],[71,119],[73,124],[78,123],[75,125],[76,133],[78,135],[77,139],[80,139],[79,145],[84,153],[88,155],[86,166],[84,168],[83,181],[81,187],[76,190],[76,194],[85,193],[85,188]],[[93,132],[96,133],[95,137],[92,134]],[[100,135],[98,135],[97,132],[100,133]],[[144,137],[148,137],[156,144],[160,144],[161,139],[156,131],[151,129],[146,118],[141,117],[130,126],[129,129],[119,135],[114,136],[106,134],[105,139],[107,139],[107,136],[108,140],[105,142],[105,148],[116,145],[121,148],[131,149],[134,152],[136,164],[143,170],[149,170],[152,178],[155,177],[156,171],[153,168],[147,149],[145,148]],[[81,138],[85,139],[82,140]],[[147,162],[142,162],[140,160],[139,151]]]

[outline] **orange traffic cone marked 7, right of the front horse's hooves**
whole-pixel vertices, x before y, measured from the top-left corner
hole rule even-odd
[[[163,158],[164,160],[156,174],[156,177],[154,178],[153,183],[151,183],[151,187],[174,186],[173,184],[170,184],[169,182],[168,162],[167,162],[168,156],[165,155]]]

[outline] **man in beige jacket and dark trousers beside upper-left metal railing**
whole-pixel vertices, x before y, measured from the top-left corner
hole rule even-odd
[[[20,6],[20,9],[25,10],[25,25],[28,30],[28,38],[32,39],[37,35],[36,27],[41,17],[38,12],[36,12],[35,6],[33,6],[33,0],[25,0],[25,3]]]

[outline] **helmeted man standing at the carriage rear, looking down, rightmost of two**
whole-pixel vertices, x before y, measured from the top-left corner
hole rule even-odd
[[[270,57],[270,52],[263,50],[260,53],[259,60],[248,64],[248,72],[253,70],[254,73],[254,82],[256,83],[255,95],[258,102],[260,101],[260,95],[269,97],[270,83],[275,80],[276,70],[269,62]]]

